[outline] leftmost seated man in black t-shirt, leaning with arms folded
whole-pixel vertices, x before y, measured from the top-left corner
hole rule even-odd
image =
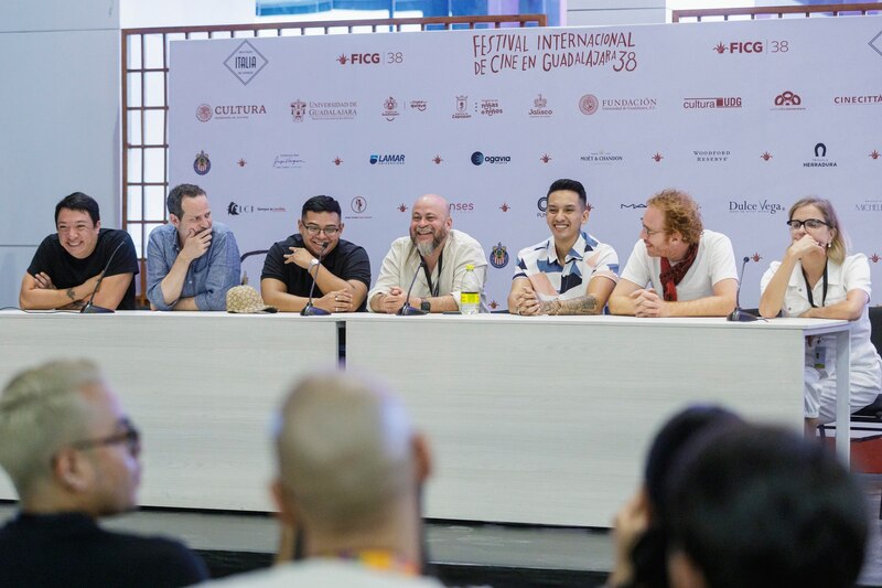
[[[107,267],[93,303],[135,310],[132,278],[138,274],[138,256],[129,234],[101,228],[98,203],[83,192],[58,202],[55,227],[58,232],[43,239],[21,281],[19,306],[25,310],[83,308]]]

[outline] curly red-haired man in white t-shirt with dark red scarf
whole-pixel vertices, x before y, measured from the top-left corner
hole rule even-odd
[[[703,227],[689,194],[669,189],[650,197],[641,240],[610,296],[610,312],[725,317],[736,297],[738,268],[729,237]]]

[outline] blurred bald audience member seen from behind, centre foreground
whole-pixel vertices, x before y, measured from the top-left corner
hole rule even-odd
[[[309,376],[282,406],[276,450],[272,495],[305,559],[220,586],[441,587],[420,576],[430,460],[400,402],[351,375]]]

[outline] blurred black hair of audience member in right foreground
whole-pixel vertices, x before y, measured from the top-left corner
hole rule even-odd
[[[743,426],[690,446],[676,469],[670,553],[684,553],[709,588],[854,585],[869,515],[829,448]]]

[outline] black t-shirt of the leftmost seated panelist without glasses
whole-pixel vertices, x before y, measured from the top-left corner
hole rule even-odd
[[[117,276],[119,274],[138,274],[138,255],[135,253],[135,243],[125,231],[117,228],[101,228],[98,231],[98,242],[95,250],[85,259],[77,259],[62,247],[58,234],[47,236],[36,248],[34,258],[28,274],[36,276],[41,271],[49,274],[52,284],[60,290],[66,290],[79,286],[87,279],[97,276],[107,265],[110,254],[122,243],[110,267],[107,268],[106,276]],[[129,284],[126,296],[122,297],[119,310],[135,310],[135,279]]]

